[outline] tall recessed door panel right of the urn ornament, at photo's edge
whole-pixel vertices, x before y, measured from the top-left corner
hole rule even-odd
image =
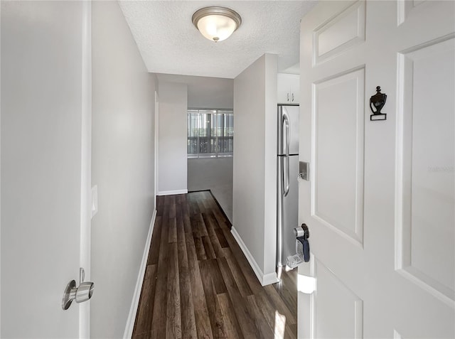
[[[446,98],[455,85],[446,74],[455,72],[454,38],[452,33],[398,53],[395,188],[395,269],[453,308],[455,119]],[[451,271],[438,264],[447,260]]]

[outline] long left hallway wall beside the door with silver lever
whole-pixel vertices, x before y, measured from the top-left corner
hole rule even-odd
[[[92,338],[122,338],[154,211],[154,78],[117,1],[92,2]]]

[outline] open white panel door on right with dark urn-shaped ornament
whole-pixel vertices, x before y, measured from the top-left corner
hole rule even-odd
[[[299,338],[455,338],[454,31],[454,1],[302,19]]]

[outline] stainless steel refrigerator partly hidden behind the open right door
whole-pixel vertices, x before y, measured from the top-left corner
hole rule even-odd
[[[296,253],[299,215],[299,105],[278,105],[277,269]],[[280,274],[279,274],[280,275]]]

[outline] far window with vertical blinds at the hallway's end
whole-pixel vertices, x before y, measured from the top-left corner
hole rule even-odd
[[[188,109],[188,158],[232,156],[234,114],[230,109]]]

